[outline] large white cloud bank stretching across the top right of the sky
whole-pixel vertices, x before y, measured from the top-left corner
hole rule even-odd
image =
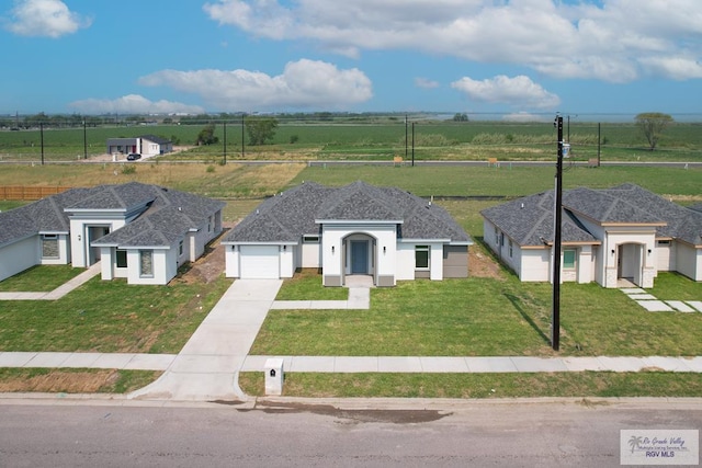
[[[216,0],[204,11],[253,36],[313,41],[350,57],[415,49],[558,78],[698,78],[695,67],[642,64],[702,56],[700,0]]]

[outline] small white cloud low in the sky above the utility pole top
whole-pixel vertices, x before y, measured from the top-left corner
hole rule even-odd
[[[529,77],[509,78],[503,75],[483,81],[464,77],[451,83],[469,99],[487,103],[509,104],[512,107],[554,109],[561,99],[534,83]]]

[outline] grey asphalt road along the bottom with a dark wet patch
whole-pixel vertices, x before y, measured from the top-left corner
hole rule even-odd
[[[89,404],[0,401],[0,466],[614,467],[622,429],[702,426],[700,399],[375,410]]]

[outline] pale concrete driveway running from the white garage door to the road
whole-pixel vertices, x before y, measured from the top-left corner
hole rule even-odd
[[[236,374],[283,282],[237,279],[155,383],[133,399],[233,400],[246,396]]]

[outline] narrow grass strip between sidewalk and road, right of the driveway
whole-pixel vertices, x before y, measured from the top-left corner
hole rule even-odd
[[[241,373],[239,387],[263,396],[263,373]],[[313,374],[285,375],[283,396],[314,398],[700,397],[702,374]]]

